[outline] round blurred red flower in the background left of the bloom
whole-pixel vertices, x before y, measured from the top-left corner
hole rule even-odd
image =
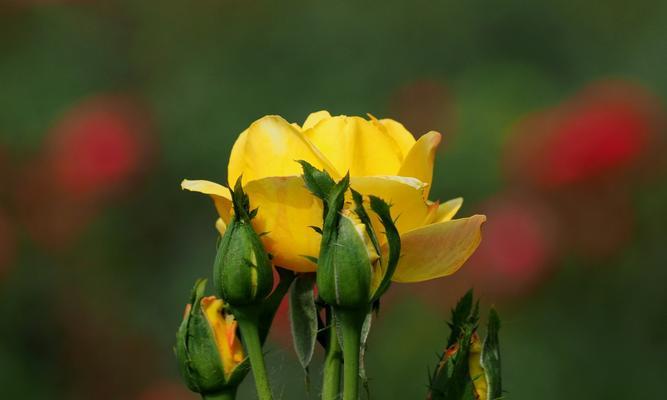
[[[148,119],[136,102],[113,96],[84,101],[50,133],[47,157],[53,178],[77,197],[121,189],[148,157]]]

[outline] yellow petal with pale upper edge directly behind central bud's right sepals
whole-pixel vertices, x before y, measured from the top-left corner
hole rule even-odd
[[[399,232],[407,232],[432,220],[431,207],[424,201],[425,184],[415,178],[401,176],[353,176],[352,189],[363,195],[373,195],[391,205],[391,216],[396,219]],[[372,213],[370,213],[372,214]],[[377,231],[384,231],[373,219]]]

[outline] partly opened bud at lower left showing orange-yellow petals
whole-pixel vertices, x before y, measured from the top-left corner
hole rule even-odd
[[[237,323],[222,300],[204,297],[206,280],[193,288],[176,334],[176,357],[193,392],[217,393],[238,386],[249,371]]]

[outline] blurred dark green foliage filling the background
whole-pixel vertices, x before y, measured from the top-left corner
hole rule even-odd
[[[657,0],[0,3],[0,217],[17,239],[0,269],[0,397],[150,399],[164,386],[191,398],[169,386],[179,379],[172,346],[216,233],[211,204],[179,182],[224,181],[235,137],[258,117],[300,123],[328,109],[409,119],[397,93],[430,82],[447,99],[436,113],[448,116],[428,126],[445,133],[432,196],[465,196],[470,214],[510,185],[503,149],[522,116],[607,77],[664,99],[666,35],[667,4]],[[46,152],[65,112],[118,93],[146,104],[155,156],[100,201],[72,244],[45,247],[21,222],[14,192],[31,182],[19,172]],[[617,183],[631,188],[634,213],[622,248],[598,259],[565,251],[538,289],[487,299],[504,316],[509,398],[664,391],[667,179],[647,168],[648,183]],[[37,204],[53,203],[36,193]],[[467,289],[445,281],[430,302],[392,288],[401,300],[383,308],[369,340],[373,397],[425,396],[444,310]],[[274,344],[268,365],[281,398],[317,397],[288,346]],[[240,398],[252,387],[244,383]]]

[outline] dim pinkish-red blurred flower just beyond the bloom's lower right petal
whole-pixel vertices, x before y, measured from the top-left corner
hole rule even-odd
[[[528,193],[505,193],[480,207],[487,215],[482,242],[466,265],[446,279],[414,285],[394,285],[384,306],[405,292],[438,307],[451,307],[474,288],[490,301],[514,300],[543,284],[558,257],[556,216],[540,198]]]

